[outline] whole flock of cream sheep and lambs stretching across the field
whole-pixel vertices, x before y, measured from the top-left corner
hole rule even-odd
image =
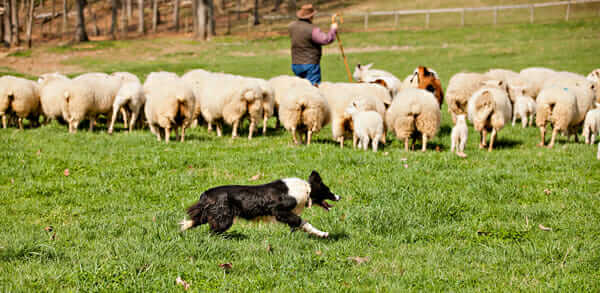
[[[354,147],[367,149],[386,142],[392,131],[409,150],[409,139],[427,141],[439,131],[444,92],[437,73],[418,67],[404,80],[393,74],[358,65],[354,76],[359,83],[323,82],[314,86],[293,76],[270,80],[196,69],[178,76],[170,72],[153,72],[142,84],[127,72],[86,73],[73,79],[59,73],[40,76],[37,82],[13,76],[0,77],[0,116],[2,126],[23,120],[32,126],[58,119],[68,124],[69,132],[89,120],[90,130],[100,115],[108,117],[112,133],[119,113],[131,131],[143,121],[160,141],[168,143],[171,131],[184,141],[187,127],[199,118],[223,134],[223,122],[232,126],[232,137],[244,119],[249,119],[251,139],[262,121],[266,133],[267,120],[277,117],[291,132],[294,143],[310,144],[314,133],[331,123],[332,137],[344,146],[346,137]],[[455,126],[451,151],[465,156],[467,118],[480,132],[480,147],[485,148],[489,133],[489,151],[498,132],[517,118],[523,127],[531,126],[533,117],[540,128],[545,145],[546,127],[551,125],[555,143],[559,133],[568,138],[583,127],[586,143],[594,143],[600,131],[600,70],[586,78],[570,72],[547,68],[528,68],[520,73],[494,69],[486,73],[455,74],[446,89],[446,103]],[[144,115],[140,116],[144,111]],[[298,140],[298,134],[300,140]],[[600,144],[598,147],[600,159]]]

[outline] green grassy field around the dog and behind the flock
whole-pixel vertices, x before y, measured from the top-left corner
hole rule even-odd
[[[456,72],[497,67],[587,74],[598,67],[599,24],[342,37],[352,64],[375,62],[401,77],[424,64],[447,84]],[[20,58],[54,56],[72,73],[207,68],[267,78],[290,73],[287,48],[283,37],[163,38],[46,47]],[[345,80],[337,49],[327,52],[324,79]],[[595,146],[561,138],[542,149],[536,129],[507,126],[492,153],[477,148],[471,131],[469,157],[460,159],[448,152],[445,106],[430,146],[440,152],[406,153],[397,141],[379,153],[339,149],[329,127],[313,145],[294,146],[273,122],[252,141],[196,128],[169,145],[147,130],[1,129],[0,291],[183,291],[178,276],[197,292],[600,290]],[[244,221],[224,236],[206,226],[178,232],[185,208],[209,187],[307,178],[313,169],[343,197],[329,213],[303,214],[330,239]]]

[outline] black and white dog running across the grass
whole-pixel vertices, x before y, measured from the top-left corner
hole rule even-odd
[[[181,231],[208,223],[215,233],[227,231],[235,217],[252,220],[257,217],[273,216],[277,221],[288,224],[292,229],[302,230],[318,237],[329,236],[300,218],[304,207],[319,205],[325,210],[331,207],[326,200],[338,201],[340,197],[331,193],[316,171],[312,171],[308,182],[299,178],[286,178],[264,185],[225,185],[211,188],[200,196],[187,213],[190,220],[179,223]]]

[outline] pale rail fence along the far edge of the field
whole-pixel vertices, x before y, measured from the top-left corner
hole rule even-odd
[[[487,7],[468,7],[468,8],[441,8],[441,9],[416,9],[416,10],[392,10],[392,11],[365,11],[365,12],[350,12],[344,14],[344,16],[362,17],[364,23],[364,29],[369,29],[369,16],[394,16],[394,27],[398,24],[399,16],[407,15],[425,15],[425,27],[429,28],[431,14],[440,13],[458,13],[461,18],[461,26],[465,25],[465,13],[466,12],[494,12],[493,24],[498,23],[498,12],[503,10],[514,10],[514,9],[529,9],[529,22],[535,22],[535,9],[544,7],[556,7],[565,6],[565,21],[569,21],[571,16],[572,5],[578,4],[590,4],[600,3],[600,0],[571,0],[571,1],[557,1],[557,2],[545,2],[545,3],[534,3],[534,4],[519,4],[519,5],[500,5],[500,6],[487,6]],[[332,14],[319,13],[317,17],[331,16]],[[600,16],[600,8],[597,13]],[[266,15],[262,17],[268,21],[293,19],[290,15]]]

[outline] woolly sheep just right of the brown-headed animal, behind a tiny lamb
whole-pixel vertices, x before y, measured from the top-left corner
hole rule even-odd
[[[446,102],[453,122],[456,122],[456,115],[467,113],[469,99],[487,80],[491,78],[485,74],[467,72],[457,73],[450,78],[446,88]]]

